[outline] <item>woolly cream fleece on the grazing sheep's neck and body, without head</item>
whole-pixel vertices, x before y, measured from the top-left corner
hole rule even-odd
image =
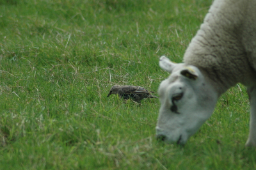
[[[216,82],[220,93],[241,82],[255,84],[256,1],[214,1],[192,39],[184,63]]]

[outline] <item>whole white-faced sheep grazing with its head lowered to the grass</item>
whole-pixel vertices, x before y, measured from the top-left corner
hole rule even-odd
[[[220,95],[242,83],[250,100],[246,146],[256,146],[256,1],[215,0],[183,63],[162,56],[171,75],[159,85],[156,138],[184,145],[211,116]]]

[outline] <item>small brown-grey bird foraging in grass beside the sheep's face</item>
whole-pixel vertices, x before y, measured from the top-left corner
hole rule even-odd
[[[143,98],[158,98],[151,95],[151,93],[154,92],[148,91],[147,89],[140,86],[115,85],[110,89],[108,97],[112,94],[118,94],[120,98],[124,98],[125,100],[132,99],[134,100],[134,102],[140,103],[140,100],[142,100]]]

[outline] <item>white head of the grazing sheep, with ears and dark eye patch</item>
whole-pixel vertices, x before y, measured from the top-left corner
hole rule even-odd
[[[196,66],[175,64],[165,56],[159,65],[172,74],[159,86],[161,107],[156,137],[185,144],[211,116],[218,97]]]

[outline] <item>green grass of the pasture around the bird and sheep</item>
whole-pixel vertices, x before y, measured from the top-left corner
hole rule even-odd
[[[0,0],[0,169],[255,169],[244,86],[180,148],[155,140],[157,91],[211,5],[179,0]]]

